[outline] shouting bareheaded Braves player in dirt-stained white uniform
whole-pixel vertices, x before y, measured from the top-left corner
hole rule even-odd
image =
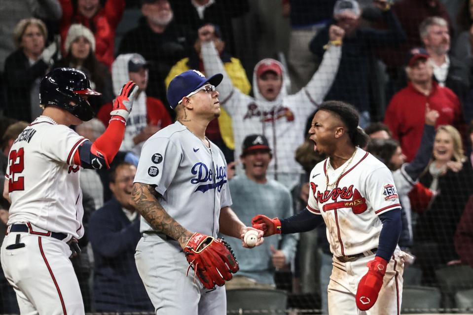
[[[325,221],[333,254],[328,313],[399,315],[406,254],[397,246],[401,209],[393,175],[358,147],[365,139],[351,105],[323,103],[309,134],[328,158],[310,174],[307,208],[285,219],[256,215],[253,227],[269,236],[309,231]]]

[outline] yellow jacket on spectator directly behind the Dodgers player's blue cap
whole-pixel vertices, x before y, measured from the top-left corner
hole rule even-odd
[[[168,76],[165,79],[166,88],[168,88],[169,83],[171,80],[176,76],[181,74],[184,71],[190,70],[187,66],[189,58],[184,58],[178,61],[173,68],[168,73]],[[230,80],[233,83],[233,86],[239,89],[242,93],[248,95],[250,94],[251,85],[250,81],[248,81],[248,77],[246,75],[245,69],[241,65],[241,62],[237,58],[230,58],[230,62],[224,62],[223,66],[225,71],[227,72]],[[204,71],[200,70],[204,73]],[[205,73],[204,73],[205,75]],[[221,100],[220,100],[221,101]],[[230,115],[225,111],[225,109],[221,108],[220,117],[218,117],[218,127],[220,129],[220,135],[225,142],[225,145],[231,149],[235,149],[235,141],[233,140],[233,129],[232,129],[232,121]]]

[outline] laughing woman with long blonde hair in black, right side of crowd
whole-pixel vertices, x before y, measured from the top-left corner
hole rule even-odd
[[[460,263],[453,237],[473,193],[472,164],[464,154],[457,129],[450,125],[437,128],[432,159],[419,182],[429,188],[434,197],[417,219],[413,253],[424,271],[424,278],[435,283],[435,267]]]

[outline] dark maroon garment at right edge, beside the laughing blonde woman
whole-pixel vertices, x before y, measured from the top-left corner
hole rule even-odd
[[[465,206],[454,241],[455,250],[462,262],[473,268],[473,196]]]

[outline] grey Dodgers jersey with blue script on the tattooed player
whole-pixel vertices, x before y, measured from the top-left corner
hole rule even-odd
[[[190,231],[213,237],[220,209],[231,206],[223,153],[178,121],[146,140],[135,182],[156,185],[159,203],[170,216]],[[143,217],[140,230],[153,230]]]

